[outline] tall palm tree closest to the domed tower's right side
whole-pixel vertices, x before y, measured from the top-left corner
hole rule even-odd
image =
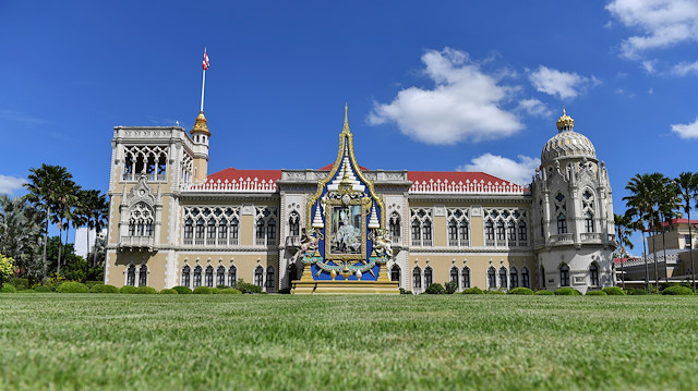
[[[654,209],[658,203],[658,193],[661,188],[661,184],[665,178],[663,174],[655,172],[652,174],[635,174],[625,186],[630,192],[629,196],[623,197],[628,207],[627,213],[633,217],[635,223],[642,230],[642,245],[645,245],[645,229],[647,227],[648,232],[657,230],[659,221],[659,211]],[[647,225],[645,225],[647,223]],[[654,236],[652,237],[652,253],[654,255],[654,283],[659,286],[659,270],[657,266],[657,246],[654,245]],[[647,270],[647,256],[646,262],[646,279],[649,281],[649,273]],[[649,288],[649,282],[646,283]]]

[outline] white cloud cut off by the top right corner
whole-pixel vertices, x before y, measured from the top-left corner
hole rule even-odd
[[[639,59],[651,49],[698,40],[698,2],[695,0],[614,0],[606,10],[626,27],[641,32],[621,44],[625,58]]]

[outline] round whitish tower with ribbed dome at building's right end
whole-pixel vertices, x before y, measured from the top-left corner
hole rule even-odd
[[[539,288],[585,293],[612,286],[616,243],[609,172],[564,109],[556,124],[531,185]]]

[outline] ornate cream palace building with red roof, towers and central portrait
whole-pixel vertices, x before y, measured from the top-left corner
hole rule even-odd
[[[203,111],[191,132],[117,126],[105,283],[244,280],[296,294],[613,285],[607,170],[569,115],[556,127],[521,186],[484,172],[365,169],[346,112],[338,148],[315,146],[334,163],[315,170],[209,173],[215,130]]]

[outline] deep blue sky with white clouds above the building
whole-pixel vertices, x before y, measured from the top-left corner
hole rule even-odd
[[[116,125],[191,129],[209,172],[320,168],[344,105],[371,169],[528,182],[565,105],[609,167],[697,171],[698,1],[0,2],[0,193],[108,187]],[[639,242],[638,242],[639,244]]]

